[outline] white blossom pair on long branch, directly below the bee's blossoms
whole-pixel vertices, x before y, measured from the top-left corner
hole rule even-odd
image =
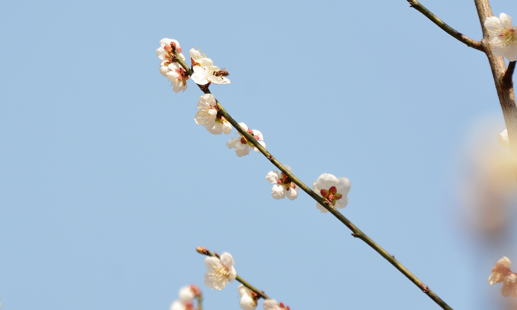
[[[230,134],[232,125],[221,115],[217,113],[216,97],[212,94],[205,94],[199,97],[197,102],[197,114],[194,121],[197,125],[205,125],[205,128],[212,134]]]

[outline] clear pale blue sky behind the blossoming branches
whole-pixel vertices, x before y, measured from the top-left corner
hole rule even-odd
[[[481,39],[472,2],[422,4]],[[228,68],[212,93],[298,178],[349,178],[343,214],[454,309],[499,290],[509,254],[476,260],[457,198],[469,129],[504,129],[490,67],[405,0],[19,1],[0,25],[4,310],[168,309],[189,283],[237,309],[236,283],[204,287],[197,246],[293,310],[438,308],[307,195],[272,199],[273,166],[227,149],[235,130],[196,126],[202,92],[158,70],[166,37]]]

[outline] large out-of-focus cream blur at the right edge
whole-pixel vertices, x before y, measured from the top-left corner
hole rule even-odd
[[[478,237],[488,239],[507,235],[517,193],[515,161],[509,149],[499,145],[506,130],[499,134],[498,144],[494,138],[500,132],[497,127],[494,122],[483,123],[473,132],[463,159],[467,166],[460,184],[467,226]]]

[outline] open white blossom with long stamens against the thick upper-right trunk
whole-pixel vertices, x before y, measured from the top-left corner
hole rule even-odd
[[[495,56],[505,56],[510,61],[517,60],[517,34],[512,26],[512,18],[501,13],[499,18],[486,18],[484,26],[490,32],[490,45]]]

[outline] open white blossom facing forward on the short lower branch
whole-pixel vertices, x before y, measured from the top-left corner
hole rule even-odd
[[[223,289],[230,281],[233,282],[237,277],[234,268],[233,257],[230,253],[224,252],[220,259],[214,256],[205,258],[206,268],[205,285],[211,289]]]

